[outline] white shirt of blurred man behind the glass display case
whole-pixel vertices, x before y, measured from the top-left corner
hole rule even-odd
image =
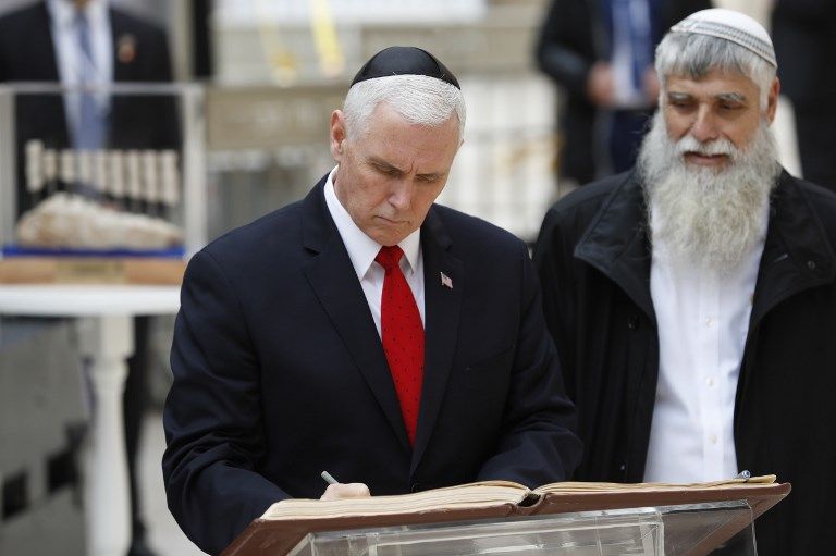
[[[61,84],[75,87],[84,85],[82,76],[86,72],[82,64],[89,64],[78,42],[78,32],[75,23],[76,8],[69,0],[47,0],[47,8],[52,22],[52,42],[56,48],[56,62],[58,76]],[[106,0],[89,0],[84,8],[89,29],[90,48],[93,50],[94,64],[88,67],[93,75],[91,86],[108,86],[113,83],[113,35],[108,16],[108,2]],[[64,110],[71,128],[78,124],[81,111],[81,97],[66,95],[64,97]],[[107,92],[96,95],[96,101],[102,111],[107,111],[110,96]]]

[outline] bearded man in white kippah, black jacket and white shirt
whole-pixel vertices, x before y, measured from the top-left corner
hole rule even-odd
[[[698,12],[656,50],[636,168],[552,207],[534,249],[590,481],[776,473],[762,555],[836,529],[836,195],[790,176],[766,32]],[[833,184],[831,184],[833,185]]]

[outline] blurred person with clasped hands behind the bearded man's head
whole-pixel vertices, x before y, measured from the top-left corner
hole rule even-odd
[[[656,106],[653,49],[710,0],[552,0],[537,63],[558,91],[557,177],[577,186],[623,172]]]

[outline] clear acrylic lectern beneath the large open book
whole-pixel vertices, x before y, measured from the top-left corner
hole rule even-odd
[[[309,533],[293,556],[679,556],[730,544],[754,555],[752,510],[745,501],[583,511]]]

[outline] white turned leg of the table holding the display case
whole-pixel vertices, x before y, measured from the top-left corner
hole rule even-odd
[[[134,351],[133,319],[88,317],[78,321],[82,353],[90,360],[91,446],[87,459],[87,546],[91,556],[124,556],[131,528],[127,459],[122,412],[127,365]]]

